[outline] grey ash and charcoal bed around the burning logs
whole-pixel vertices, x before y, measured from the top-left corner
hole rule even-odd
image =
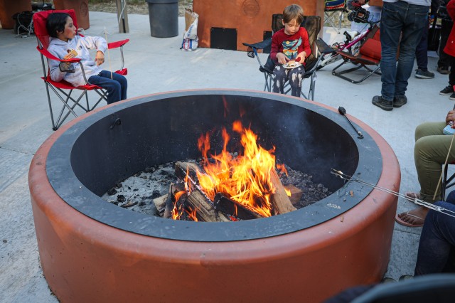
[[[186,160],[195,162],[194,160]],[[200,161],[200,159],[198,159]],[[102,198],[105,201],[139,211],[150,216],[159,216],[154,204],[154,199],[168,193],[169,185],[177,182],[174,174],[175,162],[147,167],[109,188]],[[312,176],[301,171],[295,171],[287,166],[288,175],[280,175],[283,185],[292,184],[303,191],[299,203],[294,205],[297,209],[326,198],[331,194],[323,184],[314,184]]]

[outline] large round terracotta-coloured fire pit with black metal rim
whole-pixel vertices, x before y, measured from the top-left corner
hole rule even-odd
[[[147,166],[200,156],[200,134],[236,119],[333,194],[228,223],[151,217],[100,198]],[[247,90],[146,95],[73,120],[38,149],[29,173],[50,288],[63,302],[321,302],[378,282],[397,197],[344,184],[330,170],[399,191],[400,167],[378,133],[352,121],[364,139],[332,108]]]

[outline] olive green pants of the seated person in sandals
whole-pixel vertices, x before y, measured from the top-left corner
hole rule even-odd
[[[446,122],[425,122],[415,129],[415,168],[419,177],[420,198],[427,202],[441,200],[441,185],[438,186],[438,181],[453,137],[442,133],[444,127]],[[454,161],[455,142],[447,163]],[[436,197],[433,199],[435,191]]]

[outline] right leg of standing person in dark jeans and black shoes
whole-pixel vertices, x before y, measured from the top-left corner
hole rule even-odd
[[[400,1],[397,3],[405,2]],[[405,95],[407,80],[411,76],[412,68],[414,68],[415,50],[428,21],[428,6],[408,4],[404,21],[405,26],[402,28],[394,97]]]

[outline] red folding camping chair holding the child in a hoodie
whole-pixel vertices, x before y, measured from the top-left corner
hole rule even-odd
[[[48,60],[58,60],[60,62],[71,62],[71,63],[79,63],[82,67],[82,63],[80,63],[80,59],[78,58],[72,58],[69,60],[61,60],[59,58],[56,58],[54,55],[48,52],[48,46],[49,46],[49,35],[48,31],[45,28],[45,23],[46,20],[49,16],[49,14],[52,13],[66,13],[73,18],[73,23],[74,26],[77,28],[77,20],[76,20],[76,15],[75,11],[73,9],[70,10],[61,10],[61,11],[39,11],[35,14],[33,14],[33,26],[34,26],[34,31],[36,34],[36,40],[38,42],[38,46],[36,49],[41,53],[41,63],[43,64],[43,77],[41,79],[44,80],[45,83],[45,89],[48,94],[48,103],[49,103],[49,110],[50,110],[50,119],[52,120],[52,129],[57,130],[58,127],[60,127],[63,122],[65,122],[65,119],[68,117],[68,115],[73,114],[75,117],[77,117],[77,114],[75,113],[75,107],[80,107],[82,110],[85,112],[90,112],[91,110],[95,109],[97,105],[101,102],[101,100],[106,100],[106,95],[107,92],[102,89],[102,87],[99,87],[97,85],[91,85],[91,84],[86,84],[78,87],[74,87],[70,83],[66,82],[65,80],[62,80],[60,82],[55,82],[50,79],[50,74],[49,74],[49,65],[48,65]],[[77,33],[79,34],[79,33]],[[112,49],[112,48],[120,48],[120,53],[122,55],[122,67],[120,70],[117,70],[115,73],[118,73],[120,75],[127,75],[128,70],[127,68],[124,67],[124,57],[123,57],[123,46],[124,44],[128,43],[129,39],[125,39],[123,41],[117,41],[117,42],[112,42],[107,44],[107,48]],[[44,57],[47,58],[47,60],[44,60]],[[84,73],[84,68],[82,68],[82,75],[87,82],[87,79],[85,78],[85,73]],[[54,119],[54,110],[53,110],[53,105],[50,100],[50,94],[49,94],[49,88],[55,92],[55,95],[58,96],[61,102],[63,102],[63,106],[60,110],[60,113],[58,115],[57,120],[55,121]],[[68,92],[69,90],[69,92]],[[78,97],[73,97],[71,94],[73,93],[73,90],[79,90],[80,95]],[[89,102],[88,102],[88,95],[87,92],[89,90],[93,90],[97,92],[99,95],[100,99],[97,100],[95,105],[90,107]],[[85,97],[86,105],[83,105],[81,102],[82,98]]]

